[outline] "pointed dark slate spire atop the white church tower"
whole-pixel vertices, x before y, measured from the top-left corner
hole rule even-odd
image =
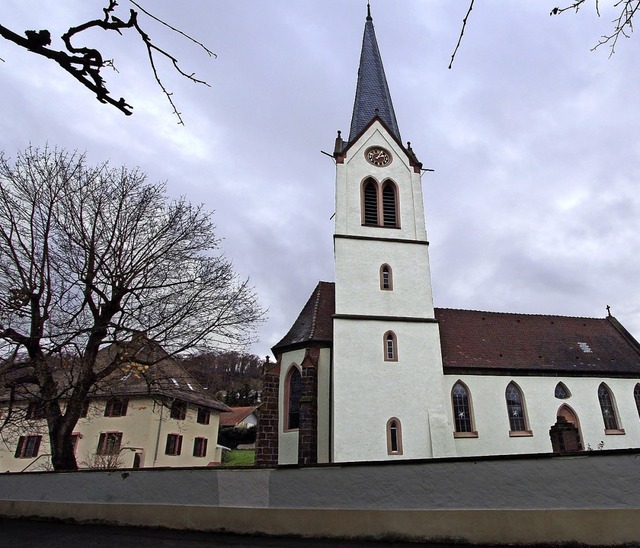
[[[353,105],[353,116],[351,117],[349,141],[352,141],[376,114],[387,125],[398,141],[402,142],[396,114],[393,111],[387,78],[384,75],[376,33],[373,28],[371,8],[367,4],[367,21],[364,25],[364,36],[362,38],[358,85],[356,87],[356,100]]]

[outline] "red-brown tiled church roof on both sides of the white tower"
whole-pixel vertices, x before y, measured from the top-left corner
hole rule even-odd
[[[334,313],[335,286],[320,282],[274,354],[310,343],[330,345]],[[613,316],[436,308],[435,317],[445,373],[640,376],[640,344]]]

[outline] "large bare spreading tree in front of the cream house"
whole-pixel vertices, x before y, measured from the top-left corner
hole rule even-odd
[[[132,334],[170,354],[252,339],[262,311],[217,246],[209,213],[137,170],[0,153],[0,355],[12,390],[35,387],[56,470],[77,467],[83,402],[130,364]]]

